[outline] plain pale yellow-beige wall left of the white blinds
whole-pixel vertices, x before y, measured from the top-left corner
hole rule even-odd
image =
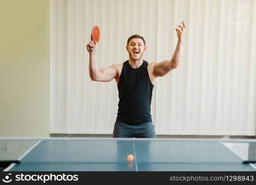
[[[0,1],[0,137],[49,137],[49,1]]]

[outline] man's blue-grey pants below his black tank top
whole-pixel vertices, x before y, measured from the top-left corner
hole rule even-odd
[[[127,125],[115,121],[113,138],[155,138],[155,126],[152,122]]]

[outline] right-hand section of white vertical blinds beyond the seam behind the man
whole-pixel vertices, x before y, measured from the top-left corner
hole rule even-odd
[[[159,26],[157,59],[169,56],[161,46],[176,43],[165,33],[168,24],[185,19],[188,29],[180,67],[157,81],[157,133],[255,135],[256,2],[159,2],[173,16],[161,19],[167,10],[159,11],[165,22]]]

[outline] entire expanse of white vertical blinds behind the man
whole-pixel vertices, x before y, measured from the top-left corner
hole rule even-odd
[[[171,59],[174,28],[185,20],[181,64],[159,78],[152,117],[157,134],[254,135],[254,0],[50,0],[50,133],[111,134],[115,81],[91,81],[91,28],[101,29],[100,68],[128,59],[129,36],[144,36],[144,59]]]

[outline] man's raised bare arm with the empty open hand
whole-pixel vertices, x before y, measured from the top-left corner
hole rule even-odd
[[[162,62],[155,64],[153,72],[155,76],[164,76],[174,68],[178,67],[183,51],[183,33],[185,28],[186,25],[184,20],[181,22],[181,25],[178,25],[178,27],[175,28],[178,36],[178,43],[176,44],[175,51],[173,52],[173,57],[171,60],[163,60]]]

